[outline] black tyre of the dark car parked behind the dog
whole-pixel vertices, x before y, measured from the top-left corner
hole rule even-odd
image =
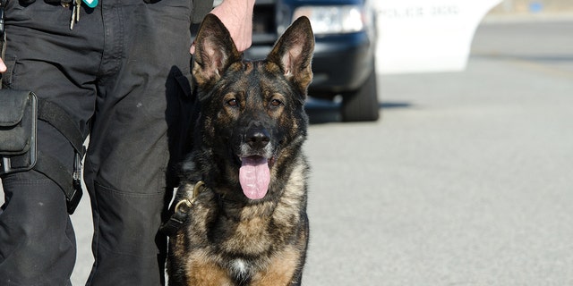
[[[375,122],[380,117],[376,70],[372,70],[362,87],[342,97],[341,114],[344,122]]]

